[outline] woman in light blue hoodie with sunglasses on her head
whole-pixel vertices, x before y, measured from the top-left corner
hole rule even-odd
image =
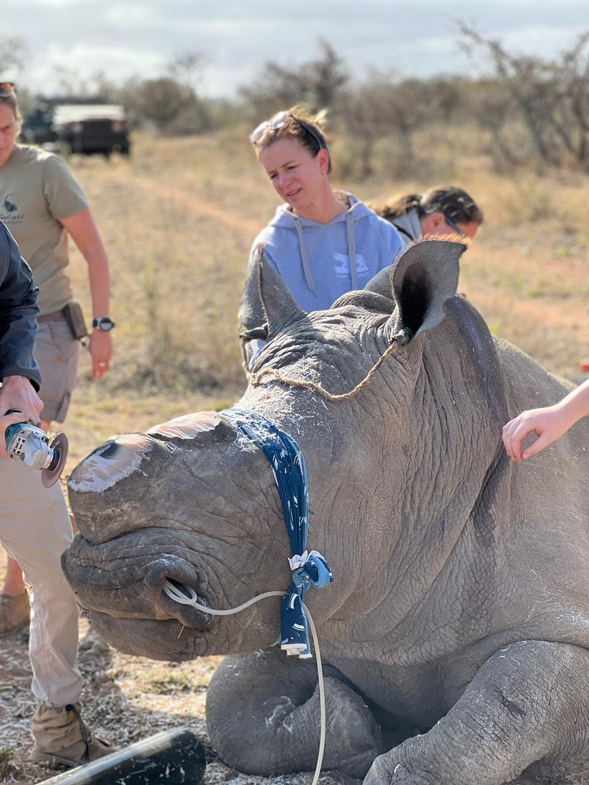
[[[281,111],[250,139],[284,202],[255,239],[250,270],[255,251],[265,244],[265,259],[309,312],[330,308],[342,294],[364,288],[379,270],[394,264],[403,249],[395,228],[353,195],[331,188],[331,159],[319,119],[296,107]],[[252,321],[256,309],[249,293],[246,286],[240,310],[246,338],[259,327]],[[250,364],[257,356],[252,349],[248,345]]]

